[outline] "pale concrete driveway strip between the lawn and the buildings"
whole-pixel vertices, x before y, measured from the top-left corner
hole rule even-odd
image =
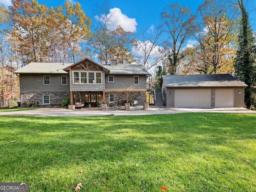
[[[29,116],[120,116],[120,115],[154,115],[154,114],[173,114],[184,112],[212,112],[212,113],[242,113],[256,114],[256,111],[246,108],[166,108],[150,106],[148,110],[143,110],[143,106],[130,107],[130,110],[124,110],[124,107],[117,107],[102,111],[98,108],[78,108],[68,110],[64,108],[40,108],[34,110],[0,112],[1,115],[29,115]]]

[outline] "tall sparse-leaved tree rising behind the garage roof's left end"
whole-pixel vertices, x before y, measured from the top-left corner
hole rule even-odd
[[[179,3],[168,4],[161,13],[163,26],[169,34],[167,47],[170,52],[168,55],[168,73],[176,74],[176,70],[180,60],[183,58],[181,54],[182,48],[186,40],[192,35],[192,24],[195,17],[191,14],[188,6],[182,7]]]

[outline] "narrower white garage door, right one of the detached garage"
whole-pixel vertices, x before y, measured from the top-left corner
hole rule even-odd
[[[215,107],[234,107],[235,89],[215,89]]]

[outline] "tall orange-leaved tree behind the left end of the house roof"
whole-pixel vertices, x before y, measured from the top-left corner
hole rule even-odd
[[[12,49],[23,57],[23,64],[47,61],[49,52],[48,8],[36,0],[15,0],[10,7]]]

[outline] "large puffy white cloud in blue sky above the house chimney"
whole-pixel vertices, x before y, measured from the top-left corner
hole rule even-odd
[[[111,30],[113,26],[121,26],[127,32],[136,32],[136,26],[138,25],[135,18],[129,18],[126,14],[122,14],[120,8],[110,9],[110,13],[107,15],[95,16],[96,20],[106,21],[108,20],[108,28]]]

